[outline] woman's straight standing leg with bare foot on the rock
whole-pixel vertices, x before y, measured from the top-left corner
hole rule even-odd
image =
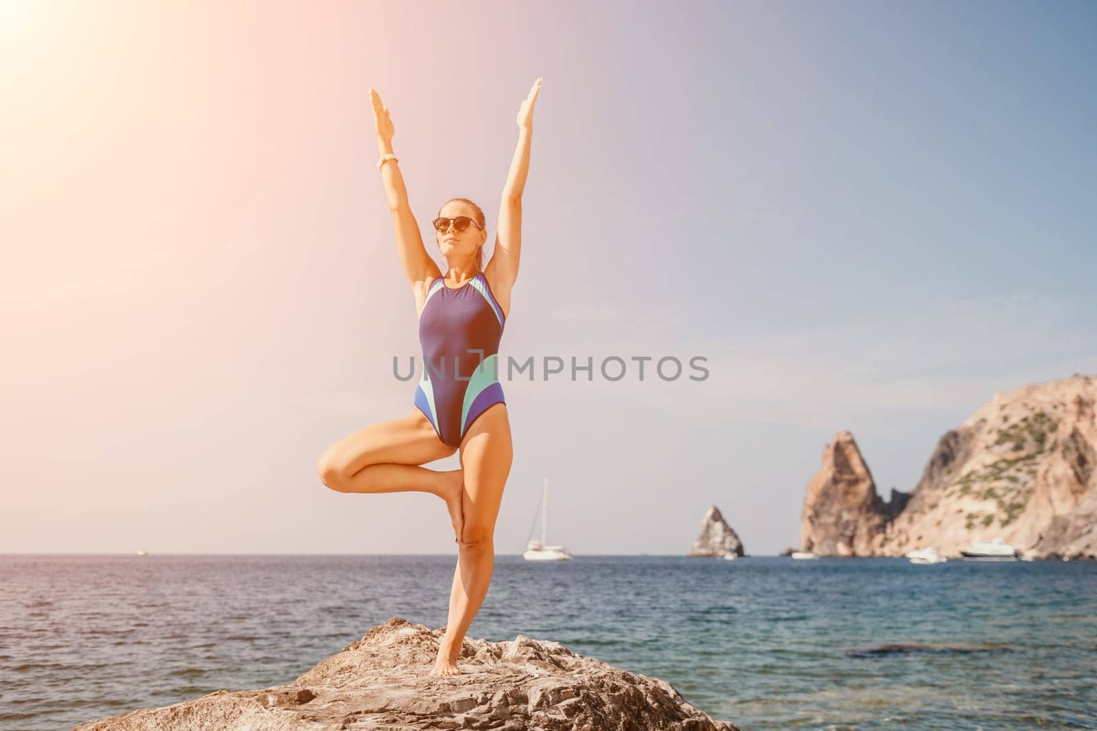
[[[513,447],[505,403],[479,415],[461,443],[464,470],[464,527],[450,591],[450,615],[439,643],[433,675],[456,675],[456,658],[473,617],[479,612],[495,568],[495,521],[510,473]]]

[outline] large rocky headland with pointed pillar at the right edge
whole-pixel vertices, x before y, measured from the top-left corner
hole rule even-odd
[[[1097,377],[1025,386],[980,407],[937,443],[917,487],[875,495],[842,432],[807,487],[801,550],[947,557],[1002,536],[1033,558],[1097,558]]]

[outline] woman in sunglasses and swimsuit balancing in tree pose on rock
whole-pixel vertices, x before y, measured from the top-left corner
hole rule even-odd
[[[496,353],[518,276],[522,190],[530,162],[538,79],[518,111],[518,149],[499,206],[495,251],[483,265],[484,212],[451,198],[434,219],[434,239],[445,256],[443,274],[427,253],[404,178],[393,155],[393,123],[373,89],[373,121],[381,149],[378,169],[396,228],[404,273],[419,313],[423,375],[407,416],[357,431],[320,457],[324,483],[340,492],[418,490],[445,501],[457,542],[445,635],[433,675],[456,675],[461,643],[479,610],[495,566],[495,521],[510,473],[510,422],[498,382]],[[421,465],[461,450],[461,469]]]

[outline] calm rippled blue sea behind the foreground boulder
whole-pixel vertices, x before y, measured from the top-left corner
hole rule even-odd
[[[454,563],[0,556],[0,728],[289,683],[394,615],[443,626]],[[519,633],[745,731],[1097,729],[1097,562],[499,556],[470,636]]]

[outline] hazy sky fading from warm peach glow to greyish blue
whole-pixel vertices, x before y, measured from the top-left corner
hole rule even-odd
[[[500,358],[596,368],[504,377],[497,553],[547,479],[578,556],[682,555],[710,505],[773,555],[836,433],[886,499],[1097,373],[1093,2],[7,0],[0,68],[0,552],[454,552],[438,498],[316,471],[414,409],[371,87],[444,270],[543,79]]]

